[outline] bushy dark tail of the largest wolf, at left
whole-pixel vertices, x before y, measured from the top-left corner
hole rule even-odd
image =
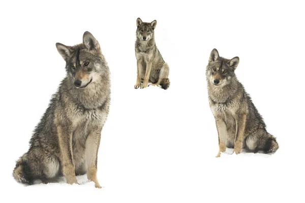
[[[24,155],[16,161],[16,166],[13,171],[13,177],[19,183],[23,183],[27,185],[33,184],[33,176],[31,175],[31,168],[29,167]]]

